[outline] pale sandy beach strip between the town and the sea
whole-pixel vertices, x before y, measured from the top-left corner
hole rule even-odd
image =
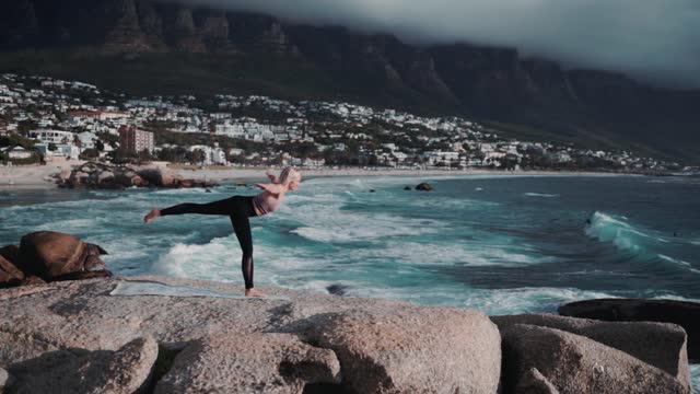
[[[63,170],[71,170],[73,165],[84,161],[49,162],[46,165],[0,166],[0,190],[44,189],[57,187],[51,175]],[[186,178],[213,182],[237,182],[265,177],[265,167],[234,167],[234,169],[170,169],[166,163],[154,162],[160,169],[168,169]],[[305,177],[329,176],[642,176],[640,174],[579,172],[579,171],[500,171],[500,170],[404,170],[404,169],[302,169]]]

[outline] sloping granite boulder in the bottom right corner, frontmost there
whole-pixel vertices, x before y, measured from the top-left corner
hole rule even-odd
[[[501,332],[504,392],[517,392],[536,368],[560,393],[689,393],[661,369],[584,336],[515,324]]]

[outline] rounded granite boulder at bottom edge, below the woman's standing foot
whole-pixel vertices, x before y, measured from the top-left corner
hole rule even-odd
[[[219,334],[195,340],[155,393],[302,393],[308,383],[339,383],[336,355],[290,334]]]

